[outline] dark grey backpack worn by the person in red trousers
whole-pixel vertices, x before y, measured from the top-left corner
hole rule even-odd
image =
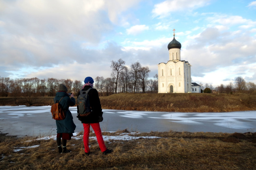
[[[89,95],[88,95],[88,92],[91,89],[92,88],[90,87],[86,91],[80,90],[80,94],[77,97],[77,105],[78,105],[78,109],[79,109],[79,115],[82,117],[88,116],[91,113],[91,106],[90,106]]]

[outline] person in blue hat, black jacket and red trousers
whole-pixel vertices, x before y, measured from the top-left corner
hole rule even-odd
[[[85,85],[82,87],[82,93],[84,94],[85,91],[87,91],[89,88],[93,87],[93,78],[86,77],[85,78]],[[78,96],[80,95],[80,91],[78,93]],[[83,123],[84,126],[84,145],[85,145],[85,155],[90,155],[90,149],[89,149],[89,134],[90,134],[90,127],[93,128],[95,135],[97,137],[97,141],[100,147],[100,150],[104,155],[109,154],[113,152],[112,149],[107,149],[106,145],[104,143],[102,132],[100,129],[100,122],[103,121],[102,117],[102,108],[100,104],[100,98],[98,91],[96,89],[91,88],[88,92],[89,95],[89,102],[91,106],[91,113],[87,116],[80,116],[79,108],[77,106],[77,117],[78,119]]]

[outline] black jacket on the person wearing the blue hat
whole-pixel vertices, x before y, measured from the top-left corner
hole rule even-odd
[[[91,86],[87,85],[82,89],[82,91],[86,91],[90,87]],[[80,91],[77,96],[79,96],[79,95],[80,95]],[[90,101],[92,112],[88,116],[81,117],[78,115],[77,117],[82,123],[98,123],[99,116],[102,116],[102,114],[103,114],[98,91],[96,89],[92,88],[88,92],[88,95],[89,95],[89,101]],[[77,106],[77,113],[79,113],[78,106]]]

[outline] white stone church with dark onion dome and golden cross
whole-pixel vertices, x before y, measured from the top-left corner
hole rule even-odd
[[[191,65],[180,60],[181,44],[175,34],[167,47],[169,61],[158,64],[158,93],[191,93]]]

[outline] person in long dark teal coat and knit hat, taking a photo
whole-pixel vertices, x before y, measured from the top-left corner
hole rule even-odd
[[[74,106],[76,104],[76,99],[74,94],[67,94],[67,87],[63,84],[59,85],[58,92],[54,98],[54,103],[60,101],[63,110],[65,110],[65,119],[56,120],[57,125],[57,146],[59,153],[67,153],[71,150],[67,149],[67,140],[70,140],[76,129],[76,125],[73,121],[71,112],[69,111],[69,106]],[[61,147],[62,138],[62,147]]]

